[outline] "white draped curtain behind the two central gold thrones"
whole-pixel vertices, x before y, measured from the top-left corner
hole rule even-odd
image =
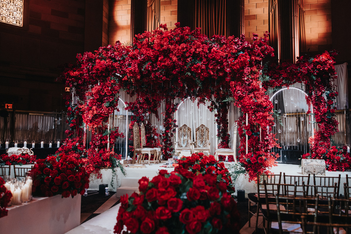
[[[177,119],[178,126],[181,127],[186,124],[191,128],[191,133],[193,135],[193,140],[196,128],[201,124],[209,128],[210,131],[210,142],[211,148],[210,153],[213,155],[215,149],[217,148],[217,125],[216,118],[214,117],[214,112],[210,112],[207,106],[210,105],[210,102],[206,101],[204,104],[199,104],[197,106],[197,99],[192,102],[190,99],[184,100],[183,103],[180,103],[178,111],[176,112],[175,118]]]

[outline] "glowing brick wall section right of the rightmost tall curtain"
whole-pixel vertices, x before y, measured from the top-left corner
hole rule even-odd
[[[331,0],[305,0],[306,50],[332,48]]]

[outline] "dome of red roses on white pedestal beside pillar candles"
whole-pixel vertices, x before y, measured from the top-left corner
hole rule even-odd
[[[84,194],[89,187],[89,176],[81,159],[66,154],[48,156],[38,159],[31,175],[33,178],[33,192],[41,196],[61,194],[68,198],[77,194]]]

